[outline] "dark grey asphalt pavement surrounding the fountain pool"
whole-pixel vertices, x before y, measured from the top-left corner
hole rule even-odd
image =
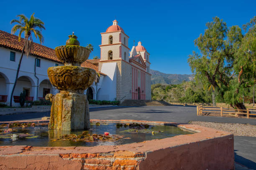
[[[38,120],[50,116],[50,112],[35,112],[15,115],[2,115],[0,121]],[[236,117],[197,116],[196,107],[145,106],[145,107],[102,107],[90,108],[91,119],[101,120],[150,120],[187,123],[189,120],[204,122],[249,123],[256,125],[256,119]],[[235,136],[235,160],[256,169],[256,137]]]

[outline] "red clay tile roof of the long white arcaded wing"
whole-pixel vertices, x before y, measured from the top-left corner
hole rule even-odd
[[[16,50],[16,51],[22,51],[23,49],[23,45],[24,45],[24,39],[21,38],[20,42],[18,41],[18,36],[16,35],[12,35],[8,32],[2,31],[0,30],[0,47],[5,47],[5,48],[9,48],[12,50]],[[46,47],[44,45],[40,45],[38,43],[34,42],[34,51],[31,55],[34,55],[36,57],[41,57],[44,58],[46,60],[51,60],[51,61],[55,61],[55,62],[59,62],[62,63],[55,54],[55,50],[49,47]],[[100,59],[96,59],[96,60],[100,60]],[[92,64],[95,63],[96,64],[96,60],[91,60],[90,62],[85,61],[81,64],[82,67],[88,67],[88,68],[92,68],[94,70],[96,70],[98,73],[105,75],[101,72],[99,72],[99,68]]]

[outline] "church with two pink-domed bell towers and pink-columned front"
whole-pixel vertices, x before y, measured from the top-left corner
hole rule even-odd
[[[129,37],[116,20],[101,36],[99,71],[107,75],[109,81],[108,84],[103,82],[105,89],[100,95],[110,96],[109,100],[115,97],[121,102],[125,99],[151,100],[151,63],[146,48],[138,42],[130,49]]]

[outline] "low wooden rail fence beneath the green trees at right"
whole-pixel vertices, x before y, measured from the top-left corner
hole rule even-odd
[[[246,115],[247,118],[250,116],[256,116],[256,108],[247,108],[246,110],[234,109],[230,107],[212,107],[212,106],[203,106],[197,105],[197,115],[207,115],[210,113],[220,114],[232,114],[232,115]]]

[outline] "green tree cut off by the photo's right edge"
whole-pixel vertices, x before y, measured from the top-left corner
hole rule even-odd
[[[234,107],[246,109],[242,105],[242,99],[244,95],[249,94],[250,88],[253,88],[256,82],[256,17],[243,25],[243,29],[246,34],[234,45],[233,63],[236,78],[230,81],[224,100]]]

